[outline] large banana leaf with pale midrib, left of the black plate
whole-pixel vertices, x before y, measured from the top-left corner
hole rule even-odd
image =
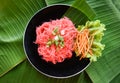
[[[44,0],[0,0],[0,77],[25,60],[24,29],[31,16],[44,6]]]

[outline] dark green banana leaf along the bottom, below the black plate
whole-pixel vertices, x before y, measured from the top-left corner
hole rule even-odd
[[[83,77],[84,79],[80,77]],[[29,64],[29,62],[25,60],[13,68],[8,74],[5,74],[0,79],[0,83],[91,83],[91,80],[90,82],[87,80],[90,79],[85,72],[83,72],[81,75],[77,75],[68,79],[48,78],[36,71]]]

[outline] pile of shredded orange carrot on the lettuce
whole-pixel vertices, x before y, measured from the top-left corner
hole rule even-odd
[[[88,29],[78,32],[73,50],[77,56],[80,56],[80,60],[85,58],[87,53],[92,55],[91,45],[93,43],[93,37],[94,36],[90,36]]]

